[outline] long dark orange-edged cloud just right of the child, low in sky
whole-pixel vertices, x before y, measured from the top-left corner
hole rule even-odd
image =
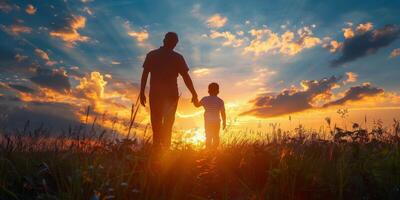
[[[258,117],[275,117],[313,108],[313,103],[319,96],[330,96],[331,90],[341,77],[332,76],[321,80],[302,81],[303,90],[284,90],[278,95],[262,95],[252,100],[253,109],[241,115]]]

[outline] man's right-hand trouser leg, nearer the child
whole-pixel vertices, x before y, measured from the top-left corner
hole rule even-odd
[[[174,126],[178,98],[166,99],[164,102],[164,120],[162,125],[162,141],[165,148],[171,146],[172,127]]]

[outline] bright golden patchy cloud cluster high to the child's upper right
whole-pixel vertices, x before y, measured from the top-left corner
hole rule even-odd
[[[293,56],[321,43],[321,40],[314,37],[307,26],[299,29],[297,35],[291,31],[279,35],[268,28],[252,29],[249,33],[255,38],[244,48],[244,53],[254,53],[256,56],[263,53],[282,53]]]

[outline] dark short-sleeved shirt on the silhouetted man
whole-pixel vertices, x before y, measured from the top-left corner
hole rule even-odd
[[[149,52],[143,68],[150,71],[150,95],[172,98],[179,95],[178,75],[189,71],[183,56],[165,47]]]

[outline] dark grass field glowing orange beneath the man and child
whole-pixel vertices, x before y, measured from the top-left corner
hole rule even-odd
[[[43,132],[1,135],[0,199],[400,198],[398,121],[334,127],[330,139],[278,130],[268,141],[231,140],[215,151]]]

